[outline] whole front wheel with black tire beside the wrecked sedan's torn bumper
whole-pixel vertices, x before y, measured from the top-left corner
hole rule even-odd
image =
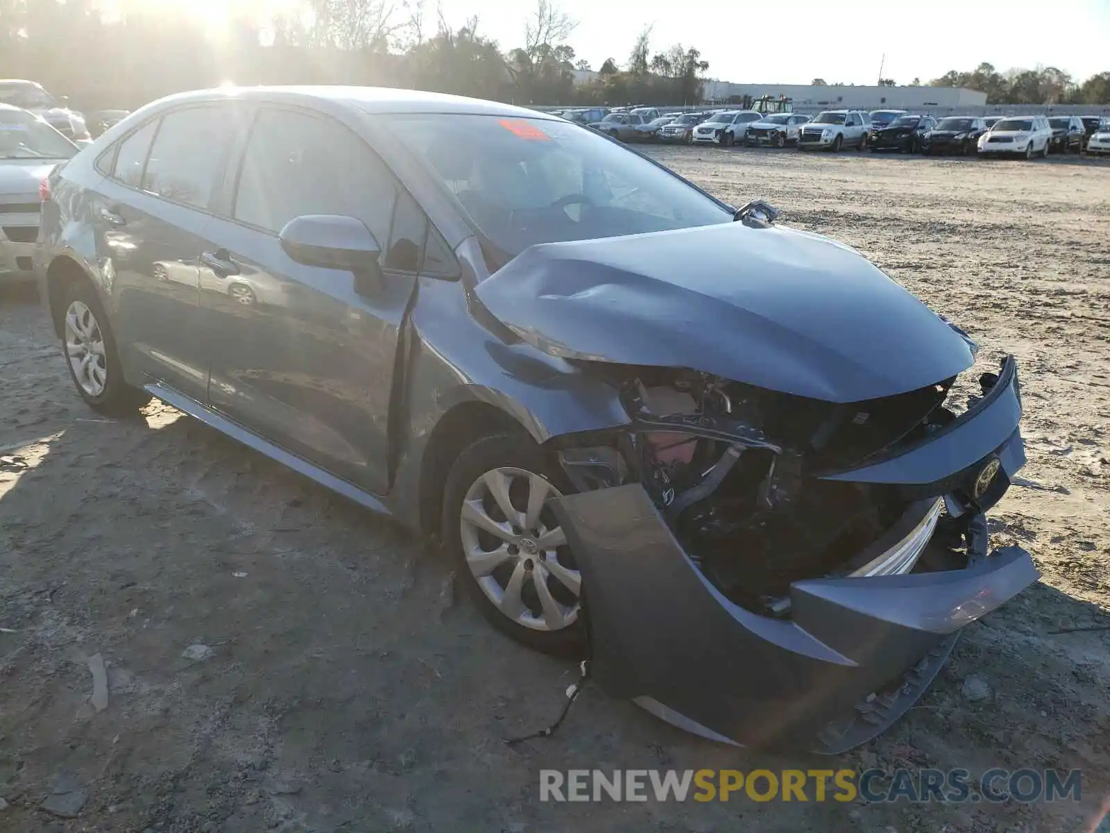
[[[557,462],[524,432],[497,433],[473,443],[458,455],[444,486],[444,546],[494,628],[544,653],[582,656],[587,645],[582,580],[551,506],[531,520],[532,529],[521,531],[529,523],[528,499],[537,488],[547,490],[548,496],[572,491]],[[518,513],[512,529],[495,491]],[[494,534],[491,528],[502,531]],[[555,545],[544,551],[544,539]],[[468,552],[480,558],[467,559]],[[481,559],[493,553],[497,558]],[[541,575],[542,584],[536,581]],[[546,590],[546,606],[541,586]]]

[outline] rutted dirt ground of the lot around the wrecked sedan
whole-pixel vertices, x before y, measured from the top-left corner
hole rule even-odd
[[[545,804],[541,769],[828,766],[715,745],[511,644],[391,523],[162,405],[105,421],[0,297],[0,831],[1078,831],[1110,795],[1110,164],[659,149],[1017,354],[996,544],[1043,573],[834,767],[1079,767],[1080,804]],[[185,659],[192,644],[208,659]],[[108,706],[90,701],[89,658]],[[969,674],[989,685],[965,695]],[[981,693],[981,692],[980,692]],[[63,821],[39,809],[70,803]],[[83,804],[81,800],[84,799]]]

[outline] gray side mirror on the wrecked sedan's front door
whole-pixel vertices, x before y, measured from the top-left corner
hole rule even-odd
[[[354,217],[305,214],[294,217],[278,235],[281,248],[297,263],[354,272],[355,288],[374,292],[381,288],[379,258],[382,248]]]

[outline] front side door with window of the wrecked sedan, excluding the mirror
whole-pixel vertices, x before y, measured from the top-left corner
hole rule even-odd
[[[208,227],[201,254],[209,403],[384,493],[397,344],[416,281],[415,268],[391,269],[391,225],[404,192],[347,127],[276,107],[258,112],[234,179],[228,217]],[[278,234],[304,214],[362,220],[383,249],[381,287],[290,259]],[[422,248],[423,238],[415,243]]]

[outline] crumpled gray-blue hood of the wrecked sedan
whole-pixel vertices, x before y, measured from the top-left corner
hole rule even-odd
[[[916,390],[973,361],[859,253],[781,227],[534,245],[475,293],[554,355],[690,368],[829,402]]]

